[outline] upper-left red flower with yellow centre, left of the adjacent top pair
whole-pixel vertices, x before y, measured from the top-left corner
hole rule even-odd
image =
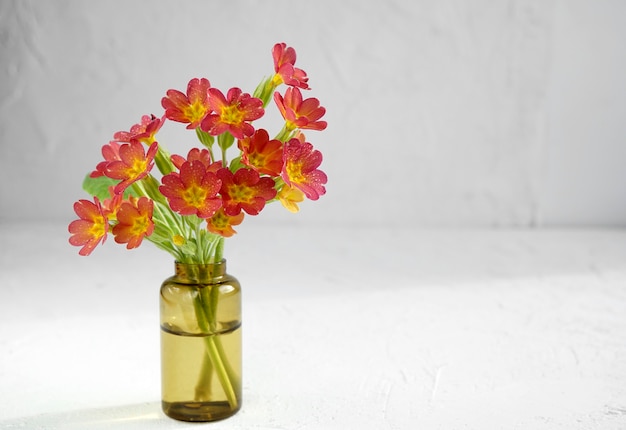
[[[189,123],[187,128],[196,128],[209,113],[208,90],[211,84],[205,78],[194,78],[187,84],[187,95],[178,90],[168,90],[161,99],[165,117],[172,121]]]

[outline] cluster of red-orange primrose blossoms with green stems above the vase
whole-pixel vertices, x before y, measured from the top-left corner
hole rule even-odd
[[[284,43],[272,50],[274,74],[253,95],[231,88],[226,94],[207,79],[192,79],[186,93],[169,90],[162,99],[162,117],[145,115],[130,131],[118,132],[102,147],[104,160],[86,184],[106,182],[106,195],[79,200],[79,219],[69,225],[70,243],[89,255],[111,232],[128,249],[144,238],[179,255],[185,243],[199,241],[198,226],[229,237],[244,214],[257,215],[268,202],[278,200],[292,212],[304,197],[325,194],[327,177],[318,169],[322,154],[306,141],[302,130],[324,130],[325,109],[316,98],[304,99],[306,73],[296,68],[295,50]],[[284,94],[275,89],[286,85]],[[273,98],[284,118],[275,138],[255,128]],[[186,157],[169,155],[156,136],[167,121],[187,124],[203,144]],[[214,143],[221,159],[214,157]],[[238,156],[227,162],[226,150],[237,143]],[[156,165],[160,182],[153,174]],[[87,189],[87,187],[86,187]]]

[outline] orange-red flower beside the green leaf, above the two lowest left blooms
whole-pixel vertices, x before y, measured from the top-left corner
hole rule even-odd
[[[103,149],[104,150],[104,149]],[[148,152],[139,141],[133,140],[119,148],[119,160],[110,161],[104,168],[104,174],[112,179],[121,179],[115,186],[115,194],[121,194],[134,182],[148,175],[154,166],[154,156],[158,150],[157,142],[148,148]]]

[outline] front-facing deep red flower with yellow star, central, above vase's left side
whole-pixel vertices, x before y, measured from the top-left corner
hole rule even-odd
[[[180,173],[165,175],[161,182],[159,191],[181,215],[210,218],[222,205],[217,197],[222,181],[200,160],[186,161]]]

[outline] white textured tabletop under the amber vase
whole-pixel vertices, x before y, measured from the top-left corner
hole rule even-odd
[[[0,428],[176,429],[151,244],[0,226]],[[267,228],[227,244],[244,401],[212,429],[624,429],[626,230]]]

